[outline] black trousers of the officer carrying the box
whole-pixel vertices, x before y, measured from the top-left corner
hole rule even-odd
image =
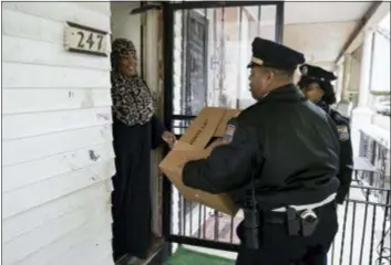
[[[338,231],[336,203],[331,202],[315,212],[319,222],[308,237],[290,236],[286,224],[264,222],[260,229],[260,248],[240,246],[237,265],[325,265],[327,253]],[[237,229],[243,237],[243,225]]]

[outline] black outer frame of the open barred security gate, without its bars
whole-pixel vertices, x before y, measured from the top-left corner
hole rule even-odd
[[[276,7],[276,40],[282,42],[284,31],[284,1],[189,1],[189,2],[165,2],[163,4],[164,18],[164,124],[168,130],[173,129],[173,120],[181,116],[182,119],[192,119],[194,116],[174,115],[174,14],[178,10],[248,7],[248,6],[275,6]],[[168,150],[166,150],[167,152]],[[175,235],[171,231],[172,224],[172,183],[163,178],[163,235],[167,242],[197,245],[224,251],[238,251],[238,245],[213,242]]]

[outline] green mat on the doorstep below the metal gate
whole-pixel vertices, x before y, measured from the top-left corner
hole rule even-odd
[[[168,258],[164,265],[235,265],[235,261],[194,252],[184,247],[178,247],[177,251]]]

